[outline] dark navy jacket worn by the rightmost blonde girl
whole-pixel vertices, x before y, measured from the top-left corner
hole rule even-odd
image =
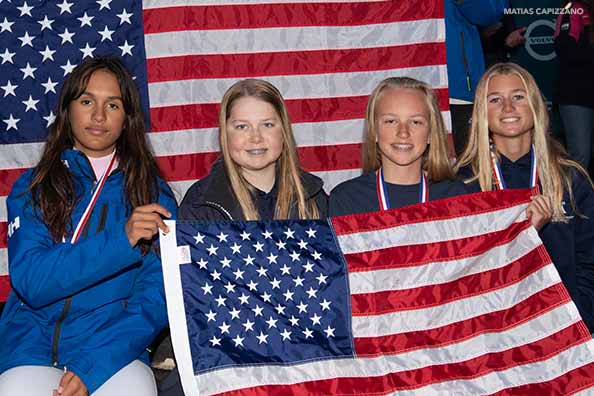
[[[501,155],[501,172],[507,188],[530,187],[531,154],[513,162]],[[470,176],[468,169],[464,177]],[[584,175],[572,172],[575,204],[582,215],[572,209],[569,194],[564,193],[563,209],[568,223],[549,223],[539,232],[563,284],[576,303],[584,322],[594,332],[594,190]],[[469,192],[481,191],[478,181],[467,185]],[[585,216],[585,217],[583,217]]]

